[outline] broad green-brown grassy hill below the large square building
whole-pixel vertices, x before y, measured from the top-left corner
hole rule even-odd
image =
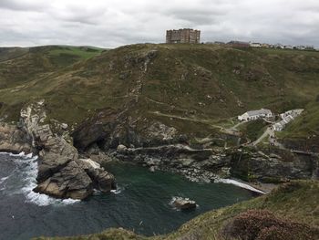
[[[26,102],[44,98],[49,117],[70,125],[112,108],[127,110],[138,124],[160,120],[204,136],[246,110],[279,113],[314,102],[319,53],[187,44],[103,52],[31,47],[0,62],[0,86],[0,118],[7,120],[17,120]]]

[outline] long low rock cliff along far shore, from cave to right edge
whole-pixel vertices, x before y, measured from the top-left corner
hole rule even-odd
[[[248,182],[283,183],[319,177],[317,156],[283,150],[192,149],[185,144],[149,148],[119,145],[118,150],[111,154],[122,161],[137,162],[151,172],[178,172],[193,182],[209,183],[219,178],[234,177]]]

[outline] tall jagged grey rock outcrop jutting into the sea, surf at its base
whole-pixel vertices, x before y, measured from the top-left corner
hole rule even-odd
[[[58,198],[85,199],[94,188],[102,192],[114,188],[112,174],[92,160],[79,160],[77,149],[66,141],[66,134],[58,135],[51,130],[46,123],[43,100],[21,110],[21,125],[40,157],[36,192]],[[67,127],[61,124],[60,129]]]

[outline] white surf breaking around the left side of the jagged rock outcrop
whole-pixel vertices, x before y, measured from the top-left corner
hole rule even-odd
[[[39,206],[47,206],[50,204],[55,205],[67,205],[80,202],[80,200],[74,199],[57,199],[50,197],[46,194],[35,193],[33,189],[36,187],[36,175],[37,175],[37,156],[33,156],[32,153],[26,154],[20,152],[18,154],[2,152],[1,154],[7,154],[14,157],[14,162],[18,165],[18,174],[21,174],[23,185],[17,193],[23,193],[26,196],[26,203],[34,203]],[[6,177],[7,179],[8,177]],[[6,180],[5,179],[5,180]],[[1,179],[3,180],[3,179]]]

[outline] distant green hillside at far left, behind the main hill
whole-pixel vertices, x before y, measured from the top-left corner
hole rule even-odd
[[[0,61],[0,116],[9,115],[9,120],[16,120],[26,102],[42,95],[47,85],[54,84],[50,78],[102,51],[97,47],[67,46],[9,47],[0,51],[0,59],[3,59]],[[39,86],[45,79],[48,82]]]

